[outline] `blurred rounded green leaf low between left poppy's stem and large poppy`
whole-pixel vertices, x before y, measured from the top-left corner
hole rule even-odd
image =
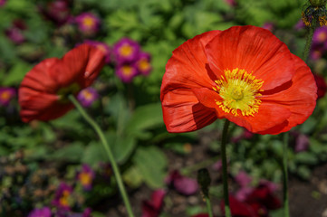
[[[158,147],[139,147],[133,161],[149,187],[155,189],[164,185],[167,159]]]

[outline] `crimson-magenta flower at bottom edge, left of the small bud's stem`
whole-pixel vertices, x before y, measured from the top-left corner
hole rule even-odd
[[[159,189],[151,194],[151,199],[142,202],[141,217],[158,217],[164,202],[166,191]]]

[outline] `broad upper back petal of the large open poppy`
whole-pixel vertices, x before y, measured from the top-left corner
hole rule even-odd
[[[207,61],[217,75],[240,69],[264,80],[263,90],[291,80],[292,53],[268,30],[255,26],[234,26],[216,35],[205,48]]]

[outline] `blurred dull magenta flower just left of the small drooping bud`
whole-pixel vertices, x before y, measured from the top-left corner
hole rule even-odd
[[[180,175],[177,170],[174,170],[168,175],[166,183],[175,188],[178,193],[191,195],[197,192],[198,184],[196,179],[188,178]]]

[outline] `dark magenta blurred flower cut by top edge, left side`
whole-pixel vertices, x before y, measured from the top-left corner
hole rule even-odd
[[[66,24],[72,19],[69,0],[54,0],[45,6],[40,6],[43,16],[58,26]]]

